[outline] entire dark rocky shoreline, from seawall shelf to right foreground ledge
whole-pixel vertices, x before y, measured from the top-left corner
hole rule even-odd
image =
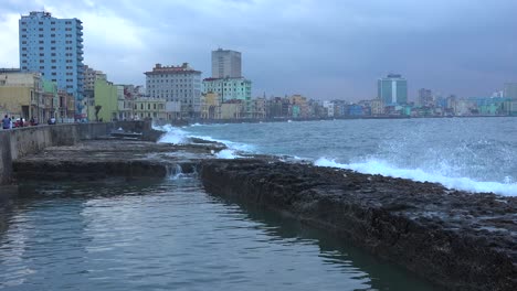
[[[517,198],[439,184],[279,162],[222,160],[223,144],[91,140],[13,163],[18,180],[197,172],[213,195],[268,207],[326,229],[450,290],[517,290]]]

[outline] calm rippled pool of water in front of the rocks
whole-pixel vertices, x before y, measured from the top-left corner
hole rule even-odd
[[[23,182],[0,204],[0,290],[437,290],[196,176]]]

